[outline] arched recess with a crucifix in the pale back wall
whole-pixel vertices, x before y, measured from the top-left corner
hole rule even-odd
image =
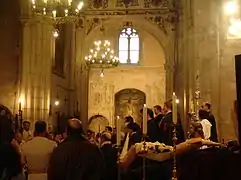
[[[138,89],[123,89],[115,94],[115,117],[123,119],[132,116],[137,123],[141,122],[140,110],[146,102],[146,95]]]

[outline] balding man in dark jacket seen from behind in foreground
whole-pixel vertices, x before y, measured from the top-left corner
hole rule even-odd
[[[83,137],[78,119],[67,122],[67,138],[53,151],[48,180],[100,180],[104,159],[99,148]]]

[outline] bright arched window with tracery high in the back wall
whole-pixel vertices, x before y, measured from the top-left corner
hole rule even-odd
[[[135,29],[125,28],[119,36],[119,61],[123,64],[139,62],[140,39]]]

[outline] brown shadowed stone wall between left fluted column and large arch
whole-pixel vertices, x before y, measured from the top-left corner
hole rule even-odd
[[[56,58],[52,64],[52,85],[51,85],[51,106],[52,106],[52,124],[56,125],[56,114],[68,117],[73,116],[77,112],[76,104],[78,99],[75,96],[75,25],[66,24],[64,26],[64,72],[58,74],[54,70],[54,64],[57,63]],[[58,38],[58,37],[57,37]],[[57,52],[59,53],[59,52]],[[55,101],[59,101],[59,105],[55,105]]]

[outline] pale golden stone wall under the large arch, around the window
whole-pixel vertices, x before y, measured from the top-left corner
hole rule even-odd
[[[166,74],[164,69],[165,54],[161,44],[147,31],[137,29],[140,35],[140,64],[119,65],[117,68],[104,70],[104,77],[100,77],[100,69],[91,69],[89,74],[89,111],[88,116],[101,114],[109,119],[114,125],[114,96],[115,93],[126,88],[135,88],[146,94],[147,105],[153,107],[156,104],[162,105],[166,96]],[[123,26],[122,26],[123,27]],[[118,48],[118,37],[121,28],[119,26],[105,26],[107,38],[111,41],[113,49]],[[94,40],[100,35],[98,30],[95,36],[87,37],[85,52]]]

